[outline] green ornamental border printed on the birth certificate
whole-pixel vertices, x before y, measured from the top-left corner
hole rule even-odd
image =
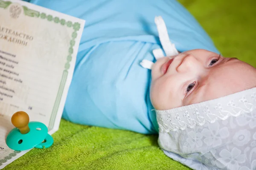
[[[8,8],[8,6],[10,6],[12,4],[12,2],[10,1],[4,1],[4,0],[0,0],[0,8],[6,9]],[[40,13],[38,11],[32,10],[27,8],[26,6],[22,6],[23,7],[23,11],[24,14],[26,16],[29,17],[36,17],[36,18],[40,18],[42,20],[48,20],[49,22],[54,22],[56,24],[61,24],[62,26],[67,26],[68,28],[73,28],[73,33],[72,33],[72,40],[70,40],[70,48],[68,49],[68,55],[67,55],[67,62],[64,65],[64,71],[62,74],[62,78],[61,78],[61,83],[60,83],[60,87],[58,89],[58,94],[57,97],[55,99],[55,103],[52,109],[52,114],[51,114],[51,119],[49,122],[49,130],[52,130],[54,122],[55,122],[55,118],[56,118],[56,114],[58,111],[58,107],[60,105],[61,102],[61,96],[64,90],[64,86],[67,80],[67,75],[68,75],[68,69],[70,68],[70,61],[72,60],[72,54],[73,54],[73,46],[76,44],[76,37],[77,37],[77,31],[79,31],[80,29],[80,23],[72,23],[71,21],[66,21],[64,19],[60,19],[59,17],[54,17],[52,15],[47,15],[44,12]],[[10,153],[9,156],[6,156],[4,159],[0,160],[0,165],[2,165],[4,162],[6,162],[8,159],[12,159],[13,156],[16,156],[17,153],[20,153],[20,151],[14,151],[13,153]]]

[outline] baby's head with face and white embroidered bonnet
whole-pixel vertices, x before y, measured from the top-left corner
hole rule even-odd
[[[151,69],[167,156],[195,170],[256,168],[256,68],[195,49],[160,57]]]

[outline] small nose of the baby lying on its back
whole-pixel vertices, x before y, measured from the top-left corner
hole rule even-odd
[[[186,56],[180,66],[177,68],[178,72],[195,71],[201,67],[201,62],[193,55]]]

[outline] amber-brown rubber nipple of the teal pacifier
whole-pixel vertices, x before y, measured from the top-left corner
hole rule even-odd
[[[26,134],[29,129],[29,115],[26,112],[18,111],[12,115],[12,125],[20,130],[21,134]]]

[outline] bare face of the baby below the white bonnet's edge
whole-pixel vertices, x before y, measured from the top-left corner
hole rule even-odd
[[[256,87],[256,68],[236,58],[191,50],[152,67],[150,98],[157,110],[204,102]]]

